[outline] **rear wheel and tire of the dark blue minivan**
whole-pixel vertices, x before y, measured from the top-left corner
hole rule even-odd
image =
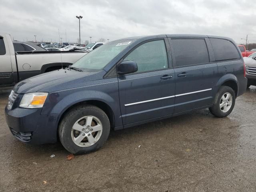
[[[225,99],[223,99],[222,96],[224,96]],[[229,99],[226,99],[226,98],[228,98],[228,96],[229,96]],[[226,102],[225,102],[225,100],[226,100]],[[231,100],[231,102],[230,102],[230,100]],[[234,90],[228,86],[221,86],[218,93],[216,94],[216,96],[214,98],[214,104],[212,107],[209,108],[209,110],[214,116],[226,117],[232,112],[232,110],[235,106],[235,102],[236,102],[236,95],[235,95]],[[220,105],[220,104],[222,104],[222,105]],[[225,107],[225,105],[226,105],[226,107]]]

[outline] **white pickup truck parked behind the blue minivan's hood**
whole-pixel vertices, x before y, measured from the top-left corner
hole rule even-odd
[[[0,34],[0,87],[14,86],[26,78],[72,65],[85,54],[74,50],[15,52],[10,35]]]

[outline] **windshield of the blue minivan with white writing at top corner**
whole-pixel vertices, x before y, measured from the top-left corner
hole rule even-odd
[[[106,43],[83,56],[72,66],[88,72],[101,70],[132,42],[134,40],[117,40]]]

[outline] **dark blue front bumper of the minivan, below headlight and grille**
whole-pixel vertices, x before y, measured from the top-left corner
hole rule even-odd
[[[12,134],[20,141],[46,144],[57,141],[58,115],[41,115],[42,108],[5,108],[6,122]]]

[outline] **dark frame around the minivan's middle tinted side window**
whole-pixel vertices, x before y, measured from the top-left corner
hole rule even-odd
[[[206,48],[207,48],[207,52],[208,52],[208,58],[209,58],[209,62],[206,63],[199,63],[199,64],[191,64],[191,65],[184,65],[184,66],[177,66],[176,65],[176,60],[175,60],[175,55],[174,55],[174,48],[172,45],[172,39],[203,39],[205,44],[206,44]],[[172,37],[172,38],[168,38],[168,41],[170,43],[170,49],[171,49],[171,53],[172,53],[172,63],[173,63],[173,68],[182,68],[182,67],[189,67],[189,66],[197,66],[197,65],[205,65],[205,64],[211,64],[211,63],[215,63],[214,60],[211,60],[211,56],[209,53],[209,46],[207,44],[207,40],[208,38],[204,38],[204,37]],[[214,58],[215,59],[215,58]]]

